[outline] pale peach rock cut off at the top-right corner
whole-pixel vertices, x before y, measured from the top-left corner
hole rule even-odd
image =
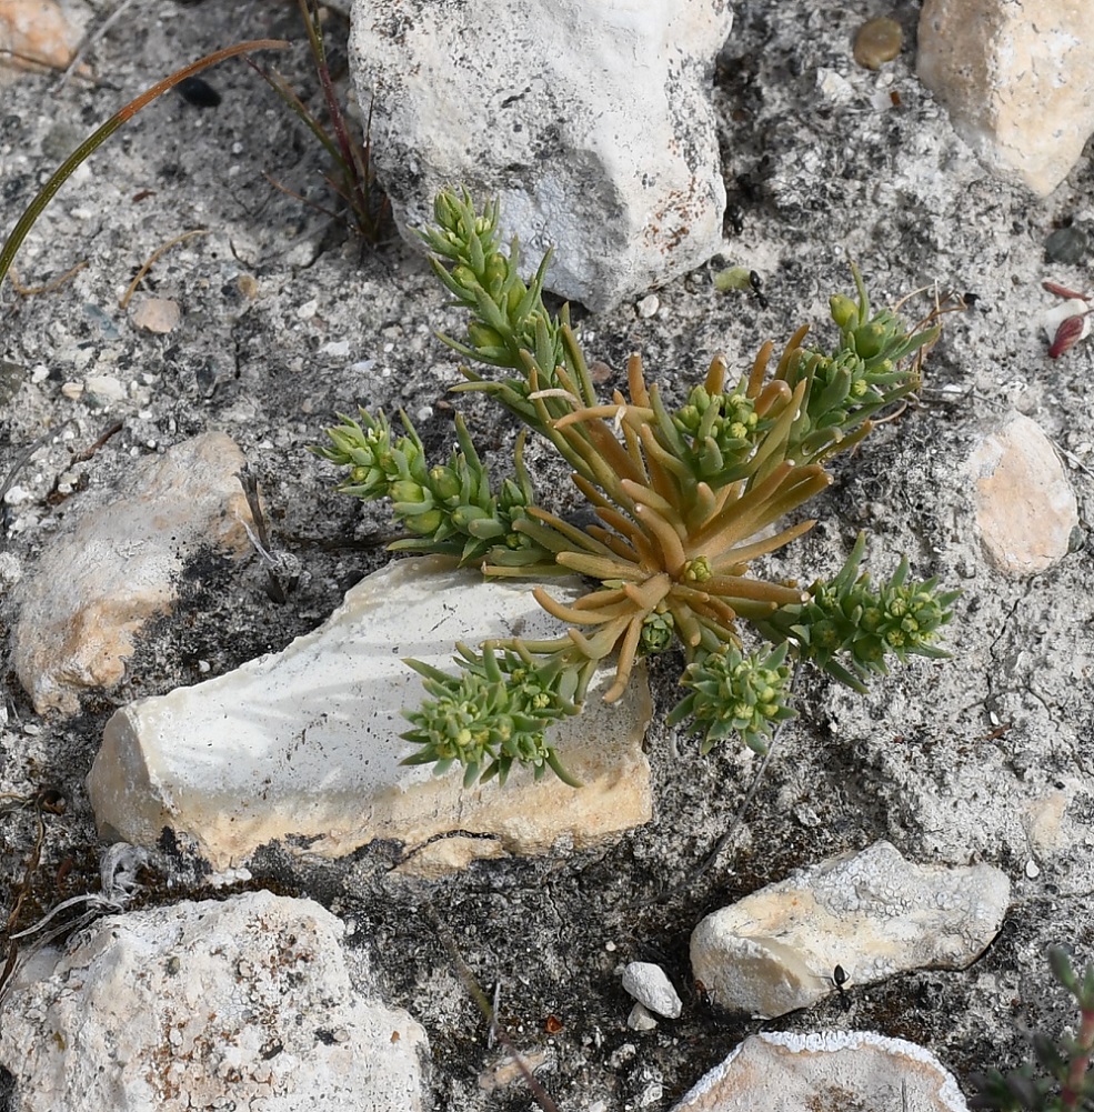
[[[1003,177],[1047,196],[1094,132],[1094,28],[1086,0],[925,0],[921,80]]]

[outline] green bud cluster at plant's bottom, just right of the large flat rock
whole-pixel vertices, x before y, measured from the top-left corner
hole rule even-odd
[[[702,752],[734,735],[754,753],[766,753],[774,727],[794,717],[788,705],[790,667],[787,644],[748,656],[734,645],[693,661],[680,681],[686,695],[668,716],[669,725],[687,717],[704,731]]]

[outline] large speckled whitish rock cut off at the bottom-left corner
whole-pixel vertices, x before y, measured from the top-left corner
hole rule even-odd
[[[269,892],[99,920],[0,1009],[6,1108],[418,1112],[425,1032],[358,997],[341,933]]]

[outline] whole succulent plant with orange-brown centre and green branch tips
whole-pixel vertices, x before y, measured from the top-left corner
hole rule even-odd
[[[873,588],[858,574],[863,538],[839,575],[809,590],[753,568],[813,526],[786,519],[832,481],[827,461],[916,389],[918,363],[909,357],[937,337],[936,325],[914,331],[893,312],[872,312],[852,268],[858,300],[832,299],[841,338],[831,353],[804,347],[800,328],[773,370],[770,342],[736,380],[716,357],[675,408],[634,355],[626,393],[605,400],[567,309],[544,306],[549,255],[525,281],[517,240],[501,249],[497,202],[478,212],[466,191],[445,191],[434,215],[419,235],[438,279],[471,318],[465,338],[440,337],[468,360],[455,389],[488,394],[524,423],[515,478],[491,483],[458,418],[457,449],[434,467],[406,415],[396,435],[382,413],[366,409],[340,417],[327,430],[330,443],[312,450],[348,468],[340,490],[391,499],[408,534],[392,548],[449,553],[489,576],[570,573],[593,586],[570,603],[535,588],[539,605],[565,623],[558,637],[460,647],[456,676],[408,662],[429,696],[406,712],[404,737],[420,746],[414,763],[445,770],[459,762],[469,784],[504,778],[514,762],[571,780],[545,729],[579,709],[609,657],[615,681],[604,697],[614,702],[640,657],[678,646],[687,694],[670,721],[693,721],[704,752],[730,736],[764,752],[773,726],[793,715],[788,661],[812,659],[863,689],[888,656],[945,655],[936,641],[956,593],[939,593],[934,579],[908,582],[906,562]],[[486,377],[470,364],[501,374]],[[594,524],[536,505],[523,463],[529,433],[570,466]],[[740,622],[767,647],[746,654]]]

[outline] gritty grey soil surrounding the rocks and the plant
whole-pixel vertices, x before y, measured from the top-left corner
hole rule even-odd
[[[878,304],[929,287],[905,309],[912,315],[929,310],[935,288],[965,295],[969,309],[946,317],[916,404],[837,464],[837,481],[817,503],[819,524],[773,560],[778,575],[808,582],[833,573],[868,529],[878,573],[906,553],[916,575],[964,592],[948,637],[953,659],[918,662],[865,698],[805,675],[800,717],[734,840],[705,871],[757,765],[733,747],[700,757],[694,739],[664,726],[677,697],[673,659],[652,669],[655,817],[614,844],[485,861],[431,882],[392,873],[395,844],[336,863],[263,851],[243,886],[308,895],[352,921],[351,960],[370,966],[387,1002],[428,1033],[438,1108],[529,1106],[519,1083],[483,1085],[501,1050],[487,1044],[468,979],[491,995],[500,985],[501,1021],[523,1052],[546,1056],[539,1076],[561,1108],[614,1112],[670,1108],[758,1030],[908,1039],[968,1092],[973,1072],[1024,1059],[1031,1027],[1056,1032],[1070,1020],[1046,947],[1094,955],[1094,344],[1053,361],[1038,326],[1052,304],[1042,280],[1091,285],[1088,255],[1051,262],[1045,242],[1061,227],[1094,225],[1094,167],[1087,157],[1046,200],[989,177],[915,78],[914,3],[896,13],[904,52],[879,75],[851,58],[861,17],[846,4],[742,0],[736,10],[714,90],[730,201],[724,256],[658,290],[653,316],[633,304],[599,316],[576,310],[585,349],[610,367],[613,385],[627,355],[640,351],[650,377],[679,397],[715,351],[743,369],[765,339],[780,344],[809,320],[823,342],[834,339],[827,298],[849,291],[848,258]],[[344,82],[346,27],[331,16],[328,28]],[[282,36],[292,49],[259,63],[276,63],[318,105],[295,6],[255,0],[137,0],[89,56],[93,83],[54,89],[56,76],[36,76],[6,86],[4,228],[93,126],[161,76],[240,39]],[[843,83],[822,88],[826,71]],[[28,286],[82,269],[37,296],[3,290],[0,590],[16,574],[33,575],[82,490],[109,490],[133,459],[206,430],[240,445],[276,542],[299,557],[302,574],[288,600],[275,603],[257,556],[193,563],[176,612],[146,632],[125,687],[86,699],[77,717],[38,717],[6,661],[0,876],[12,931],[98,890],[101,845],[84,777],[118,704],[284,648],[387,560],[384,508],[336,496],[330,469],[305,451],[332,414],[358,401],[402,407],[432,451],[447,453],[452,440],[456,360],[432,332],[457,332],[460,319],[422,258],[394,235],[362,246],[340,220],[275,188],[270,178],[335,203],[321,181],[324,152],[266,82],[241,61],[206,76],[219,106],[172,93],[146,110],[61,190],[17,262]],[[143,260],[190,231],[200,235],[171,247],[120,309]],[[715,291],[713,274],[738,264],[763,277],[763,301]],[[136,327],[148,297],[179,304],[172,331]],[[112,376],[123,389],[113,398],[64,389],[91,376]],[[484,454],[504,467],[515,428],[481,399],[463,395],[458,406]],[[1064,453],[1082,520],[1073,550],[1030,578],[1007,578],[985,559],[964,469],[1012,408]],[[565,506],[557,466],[540,455],[530,466],[545,500]],[[0,643],[14,617],[2,612]],[[43,801],[52,804],[44,812]],[[923,863],[1004,870],[1013,904],[991,949],[964,972],[906,974],[777,1021],[714,1014],[688,964],[688,936],[703,915],[879,837]],[[185,861],[145,880],[145,905],[211,894]],[[631,960],[664,965],[684,1000],[679,1020],[640,1035],[626,1027],[630,1001],[618,969]]]

